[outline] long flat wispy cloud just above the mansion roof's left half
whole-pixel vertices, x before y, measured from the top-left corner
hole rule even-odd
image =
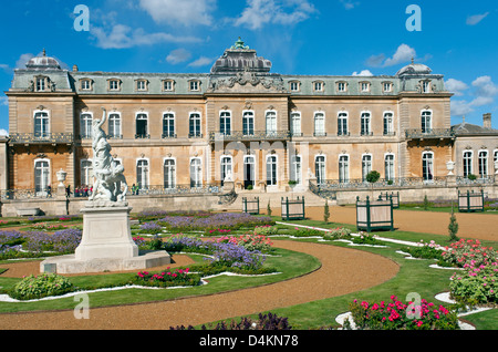
[[[92,35],[96,39],[96,45],[102,49],[126,49],[142,45],[153,45],[163,42],[186,43],[199,42],[193,37],[175,37],[169,33],[146,33],[142,28],[132,29],[128,25],[115,24],[110,33],[103,28],[91,28]]]

